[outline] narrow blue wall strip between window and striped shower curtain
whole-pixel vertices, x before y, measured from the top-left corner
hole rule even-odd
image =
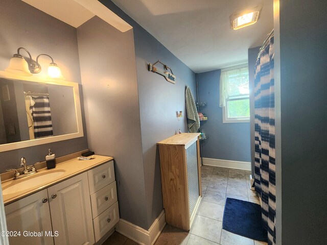
[[[249,48],[248,67],[249,67],[249,88],[250,88],[250,146],[251,146],[251,171],[254,178],[254,66],[258,57],[260,47]]]

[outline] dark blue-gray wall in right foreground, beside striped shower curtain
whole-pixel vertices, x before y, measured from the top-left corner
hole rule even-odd
[[[276,98],[281,159],[276,159],[276,177],[282,181],[276,184],[282,229],[277,237],[282,236],[283,245],[326,244],[327,1],[279,0],[279,6],[275,55],[280,80],[277,76],[275,83],[281,92]]]

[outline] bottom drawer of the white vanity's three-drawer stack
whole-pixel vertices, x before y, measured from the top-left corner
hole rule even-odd
[[[93,220],[96,242],[103,237],[119,221],[118,202],[107,208]]]

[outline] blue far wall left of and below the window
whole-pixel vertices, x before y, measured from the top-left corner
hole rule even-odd
[[[201,129],[209,139],[202,141],[202,157],[250,162],[250,124],[223,124],[219,107],[220,70],[198,74],[199,102],[206,102],[200,111],[208,116]]]

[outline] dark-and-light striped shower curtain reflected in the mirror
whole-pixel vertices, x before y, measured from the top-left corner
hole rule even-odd
[[[50,101],[48,96],[33,96],[32,106],[34,121],[34,137],[43,138],[53,136]]]

